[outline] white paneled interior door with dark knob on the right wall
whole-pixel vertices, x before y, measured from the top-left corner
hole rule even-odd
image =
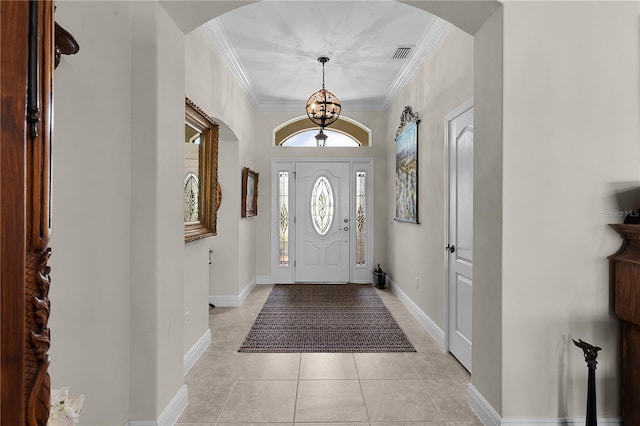
[[[448,120],[448,321],[451,352],[471,371],[473,299],[473,108]]]

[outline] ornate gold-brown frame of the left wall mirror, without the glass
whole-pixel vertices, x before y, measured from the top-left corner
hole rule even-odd
[[[184,241],[217,234],[219,125],[189,98],[185,98],[185,123],[202,134],[199,154],[199,217],[184,223]]]

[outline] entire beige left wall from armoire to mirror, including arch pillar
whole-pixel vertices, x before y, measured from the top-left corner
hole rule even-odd
[[[81,50],[56,73],[53,386],[83,424],[155,420],[183,386],[184,36],[156,3],[56,15]]]

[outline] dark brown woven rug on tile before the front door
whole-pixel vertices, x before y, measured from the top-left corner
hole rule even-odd
[[[239,352],[416,352],[371,285],[276,284]]]

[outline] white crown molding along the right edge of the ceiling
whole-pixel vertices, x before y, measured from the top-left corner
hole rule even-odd
[[[389,86],[384,101],[384,110],[389,108],[398,97],[402,89],[409,82],[411,77],[420,69],[425,59],[429,56],[434,46],[440,38],[449,30],[451,25],[438,17],[429,25],[416,44],[416,49],[410,59],[405,63],[398,73],[394,82]]]

